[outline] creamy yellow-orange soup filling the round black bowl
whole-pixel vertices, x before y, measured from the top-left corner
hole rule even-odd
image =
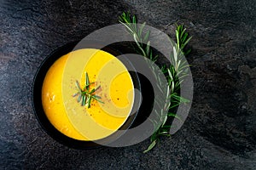
[[[85,72],[90,88],[97,88],[103,104],[92,100],[82,106],[76,81],[84,88]],[[49,68],[44,78],[42,102],[49,122],[73,139],[96,140],[108,137],[121,127],[131,113],[134,87],[125,65],[99,49],[84,48],[63,55]]]

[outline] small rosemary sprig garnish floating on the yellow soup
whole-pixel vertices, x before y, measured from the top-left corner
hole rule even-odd
[[[90,85],[94,84],[95,82],[90,82],[88,73],[85,72],[85,85],[84,88],[81,88],[79,81],[76,81],[76,86],[79,90],[78,93],[73,94],[73,97],[78,96],[78,102],[81,102],[81,105],[87,105],[87,108],[90,108],[91,101],[95,99],[96,101],[104,104],[100,99],[101,96],[96,95],[96,91],[101,88],[101,86],[98,86],[97,88],[90,88]]]

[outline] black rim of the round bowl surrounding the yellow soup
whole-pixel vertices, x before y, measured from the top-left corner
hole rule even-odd
[[[65,144],[68,147],[76,148],[76,149],[92,149],[101,146],[102,144],[109,144],[113,142],[115,139],[119,139],[122,135],[120,133],[113,133],[112,135],[100,139],[97,141],[83,141],[83,140],[78,140],[78,139],[72,139],[67,137],[65,134],[61,133],[58,131],[48,120],[47,116],[44,113],[43,105],[42,105],[42,86],[44,82],[44,77],[49,70],[49,67],[53,65],[56,59],[59,59],[61,56],[64,54],[68,54],[69,52],[73,51],[73,48],[76,47],[76,49],[79,48],[88,48],[87,45],[80,45],[80,47],[77,47],[78,42],[71,42],[68,43],[67,45],[62,46],[61,48],[57,48],[52,54],[49,54],[46,59],[44,59],[43,63],[40,65],[36,76],[34,78],[33,82],[33,88],[32,88],[32,105],[34,109],[34,113],[38,119],[38,122],[40,123],[41,127],[44,128],[44,131],[49,134],[50,137],[55,139],[61,144]],[[97,48],[97,44],[90,45],[89,48]],[[113,54],[114,56],[118,56],[121,54],[119,50],[116,50],[111,47],[104,47],[102,50],[108,52],[109,54]],[[129,62],[129,59],[122,60],[123,64],[129,68],[128,70],[131,74],[131,78],[134,84],[134,88],[137,88],[137,90],[141,91],[141,81],[139,78],[139,75]],[[137,94],[136,94],[137,95]],[[134,102],[140,102],[141,96],[135,96],[135,101]],[[141,109],[136,108],[137,106],[133,106],[132,110],[135,111],[135,114],[130,115],[125,123],[120,127],[119,129],[121,130],[127,130],[130,127],[135,127],[138,122],[141,122],[138,112],[141,111]],[[143,116],[141,116],[143,117]],[[136,122],[137,118],[137,122]],[[142,118],[143,119],[143,118]],[[100,144],[99,144],[100,143]]]

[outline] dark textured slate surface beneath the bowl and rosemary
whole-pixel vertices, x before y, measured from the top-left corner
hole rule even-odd
[[[53,49],[123,10],[173,37],[184,23],[193,105],[171,139],[143,154],[125,148],[73,150],[51,139],[32,111],[32,80]],[[256,169],[256,1],[0,1],[0,169]]]

